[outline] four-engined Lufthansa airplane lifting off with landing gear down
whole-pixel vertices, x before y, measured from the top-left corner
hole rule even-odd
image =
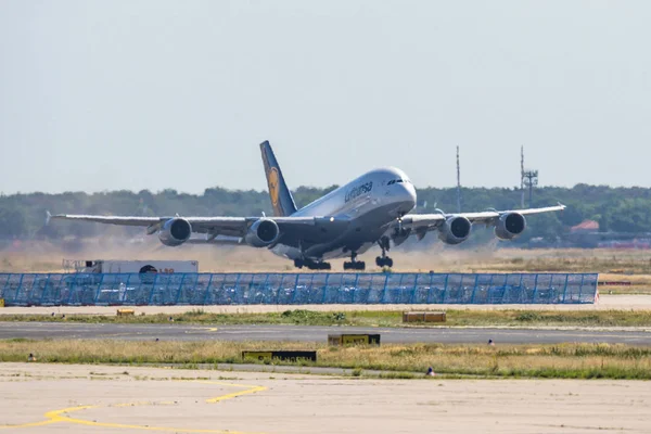
[[[50,215],[50,219],[82,220],[120,226],[145,227],[158,234],[166,246],[189,244],[245,244],[268,248],[294,261],[297,268],[331,269],[328,259],[350,258],[344,270],[365,270],[359,254],[379,245],[378,267],[393,267],[387,255],[392,246],[409,237],[422,240],[437,231],[446,244],[459,244],[470,237],[472,225],[495,228],[501,240],[513,240],[526,228],[525,216],[558,212],[564,205],[519,210],[489,209],[480,213],[409,214],[416,207],[416,189],[398,168],[371,170],[298,209],[288,188],[269,141],[260,143],[273,216],[267,217],[126,217]],[[205,239],[192,238],[205,234]]]

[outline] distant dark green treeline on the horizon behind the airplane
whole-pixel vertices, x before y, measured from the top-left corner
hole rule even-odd
[[[333,190],[299,187],[294,191],[298,206],[307,205]],[[521,205],[520,189],[462,189],[462,210],[486,208],[518,209]],[[525,205],[528,195],[525,196]],[[567,205],[563,213],[531,217],[529,229],[521,239],[541,237],[553,241],[567,228],[585,219],[597,220],[601,231],[651,232],[651,189],[611,188],[607,186],[577,184],[571,189],[541,187],[534,191],[531,206]],[[457,210],[457,191],[449,189],[418,190],[418,213],[431,213],[441,208],[447,213]],[[69,235],[92,237],[98,234],[138,233],[133,229],[118,229],[93,224],[56,221],[46,227],[46,210],[67,214],[135,215],[135,216],[259,216],[271,215],[271,204],[266,191],[240,191],[222,188],[206,189],[203,194],[186,194],[175,190],[152,193],[113,191],[87,194],[66,192],[62,194],[13,194],[0,196],[0,239],[61,239]]]

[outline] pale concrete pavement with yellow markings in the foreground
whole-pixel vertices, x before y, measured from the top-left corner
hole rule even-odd
[[[639,381],[350,379],[4,363],[11,433],[648,433]]]

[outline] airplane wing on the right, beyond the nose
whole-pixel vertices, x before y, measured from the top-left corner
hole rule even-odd
[[[485,210],[480,213],[455,213],[455,214],[407,214],[403,217],[403,228],[413,229],[414,231],[433,230],[438,228],[446,219],[450,217],[465,217],[472,224],[495,224],[505,214],[518,213],[523,216],[533,214],[552,213],[565,209],[565,205],[547,206],[544,208],[513,209],[513,210]],[[398,227],[398,222],[393,224]]]

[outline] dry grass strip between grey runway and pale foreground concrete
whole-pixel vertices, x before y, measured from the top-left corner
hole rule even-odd
[[[280,342],[131,342],[131,341],[0,341],[0,361],[64,363],[210,363],[261,362],[243,360],[242,350],[302,349],[318,352],[317,362],[265,363],[316,366],[446,375],[554,379],[651,380],[651,348],[609,344],[561,345],[443,345],[409,344],[332,347],[317,343]]]

